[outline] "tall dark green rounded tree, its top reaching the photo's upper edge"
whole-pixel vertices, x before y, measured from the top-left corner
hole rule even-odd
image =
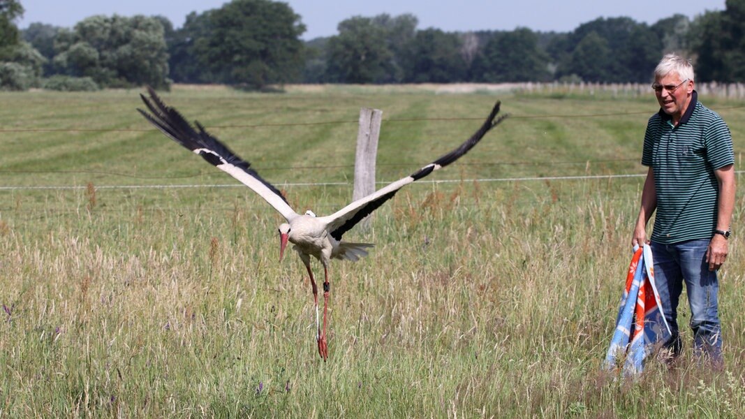
[[[233,0],[206,14],[206,34],[191,48],[214,81],[261,88],[297,79],[305,25],[288,4]]]

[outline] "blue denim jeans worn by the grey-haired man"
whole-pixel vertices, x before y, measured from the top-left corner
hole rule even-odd
[[[651,243],[654,278],[671,329],[665,346],[679,355],[682,342],[678,331],[678,303],[685,282],[688,306],[691,307],[691,330],[694,351],[708,356],[714,364],[722,362],[722,328],[719,321],[717,272],[708,270],[706,250],[709,239],[663,245]]]

